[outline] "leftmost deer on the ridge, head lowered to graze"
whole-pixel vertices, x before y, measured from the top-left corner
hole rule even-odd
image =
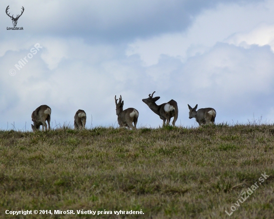
[[[41,105],[31,114],[31,120],[33,121],[33,125],[31,125],[32,131],[36,131],[40,129],[40,125],[42,125],[42,130],[44,131],[44,127],[47,130],[50,129],[50,114],[51,109],[47,105]],[[47,124],[46,124],[47,121]]]

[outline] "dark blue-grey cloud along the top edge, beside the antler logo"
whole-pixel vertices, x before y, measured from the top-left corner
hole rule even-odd
[[[214,8],[220,3],[240,2],[245,5],[258,1],[263,0],[3,0],[1,4],[2,9],[9,4],[10,11],[14,14],[24,6],[25,11],[18,20],[18,25],[24,24],[24,30],[31,36],[75,36],[92,43],[94,40],[122,42],[137,37],[183,31],[206,8]],[[0,14],[0,19],[9,23],[1,23],[0,28],[11,25],[5,13]],[[8,36],[10,32],[2,34]]]

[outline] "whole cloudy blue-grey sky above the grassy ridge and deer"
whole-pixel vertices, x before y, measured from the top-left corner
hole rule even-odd
[[[24,7],[23,30],[7,30],[7,5]],[[273,0],[1,0],[0,20],[0,129],[31,130],[43,104],[52,127],[78,109],[88,128],[117,127],[115,95],[137,127],[158,127],[141,101],[153,91],[177,101],[176,125],[197,125],[187,104],[214,108],[216,123],[274,122]]]

